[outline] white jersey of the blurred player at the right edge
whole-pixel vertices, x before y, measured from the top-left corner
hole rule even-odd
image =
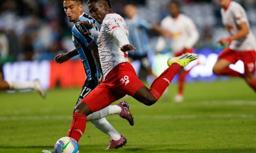
[[[221,8],[222,23],[230,33],[230,35],[236,34],[240,29],[238,25],[246,22],[250,29],[250,25],[246,16],[246,12],[243,7],[237,2],[230,2],[227,10]],[[237,51],[255,50],[256,41],[253,33],[249,30],[249,34],[239,40],[233,40],[230,44],[230,49]]]

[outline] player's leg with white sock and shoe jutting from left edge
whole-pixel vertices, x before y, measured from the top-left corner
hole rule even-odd
[[[31,89],[40,94],[43,98],[46,97],[46,91],[41,86],[38,79],[34,81],[19,82],[18,80],[5,81],[3,79],[3,70],[0,65],[0,91],[1,90],[27,90]]]

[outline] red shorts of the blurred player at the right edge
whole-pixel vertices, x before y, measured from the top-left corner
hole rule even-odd
[[[226,59],[231,63],[236,63],[238,60],[241,60],[245,67],[245,74],[255,73],[255,50],[236,51],[230,48],[226,48],[219,54],[218,59]]]

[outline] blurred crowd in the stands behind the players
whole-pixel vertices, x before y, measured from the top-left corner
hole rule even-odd
[[[135,3],[139,15],[150,23],[159,24],[166,15],[169,0],[112,0],[113,11],[123,15],[126,3]],[[221,22],[218,0],[183,0],[181,10],[195,22],[200,41],[195,46],[214,48],[217,40],[226,35]],[[241,0],[251,29],[256,35],[256,1]],[[87,11],[84,1],[85,12]],[[50,60],[63,50],[73,49],[71,28],[59,0],[0,0],[0,63],[9,61]],[[150,43],[158,35],[150,34]]]

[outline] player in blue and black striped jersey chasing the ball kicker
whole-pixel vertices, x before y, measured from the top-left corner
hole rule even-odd
[[[90,15],[82,12],[84,7],[81,0],[64,0],[63,6],[69,22],[74,23],[72,28],[72,39],[76,49],[68,52],[67,54],[59,54],[55,57],[55,61],[57,63],[63,63],[74,56],[80,56],[86,72],[86,80],[84,86],[82,87],[79,99],[77,100],[76,104],[78,104],[81,99],[88,96],[88,94],[98,86],[98,83],[101,82],[100,78],[103,79],[100,59],[98,56],[98,45],[96,42],[97,37],[85,34],[86,32],[97,32],[98,27],[96,21]],[[86,27],[80,24],[80,22],[88,22],[89,24],[93,25],[93,31],[92,29],[86,29]],[[98,105],[100,105],[100,103]],[[118,131],[109,124],[106,118],[104,118],[110,114],[119,114],[122,118],[128,120],[130,125],[134,124],[133,116],[129,111],[129,105],[125,101],[121,101],[117,105],[110,105],[109,107],[88,115],[87,121],[92,122],[96,128],[110,136],[111,140],[106,150],[115,149],[126,145],[126,138],[119,134]],[[81,126],[85,126],[85,124],[86,122]],[[71,126],[67,136],[71,137],[72,134],[76,132],[82,134],[82,131],[80,130],[73,131],[73,127]],[[44,150],[43,152],[47,153],[51,151]]]

